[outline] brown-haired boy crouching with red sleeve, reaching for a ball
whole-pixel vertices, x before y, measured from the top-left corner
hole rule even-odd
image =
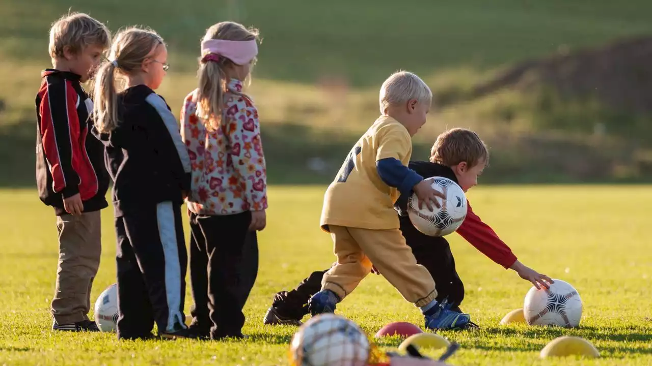
[[[475,132],[454,128],[437,137],[430,152],[430,162],[409,162],[408,167],[421,176],[449,178],[466,192],[477,185],[477,178],[488,163],[488,158],[488,150]],[[443,236],[428,236],[412,225],[407,213],[408,198],[408,195],[401,195],[394,204],[399,216],[400,230],[417,263],[426,267],[435,280],[437,302],[447,300],[452,310],[461,313],[464,284],[455,270],[451,247]],[[509,246],[473,212],[471,204],[468,204],[466,219],[457,232],[482,254],[504,268],[516,271],[522,279],[530,281],[537,288],[548,287],[548,283],[552,283],[548,276],[539,274],[519,262]],[[327,271],[328,269],[313,272],[297,289],[276,293],[263,323],[300,325],[301,318],[308,314],[306,303],[321,289],[321,279]],[[378,274],[378,271],[374,272]]]

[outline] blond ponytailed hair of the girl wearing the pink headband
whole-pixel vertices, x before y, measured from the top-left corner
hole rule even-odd
[[[258,40],[258,29],[246,29],[242,24],[222,21],[207,29],[203,40]],[[227,83],[226,68],[233,64],[226,57],[220,57],[218,62],[207,63],[202,63],[200,58],[196,114],[204,121],[207,130],[216,130],[220,126]]]

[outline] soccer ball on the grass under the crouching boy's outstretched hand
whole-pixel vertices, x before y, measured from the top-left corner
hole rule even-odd
[[[575,328],[582,318],[582,299],[569,283],[553,279],[550,289],[532,287],[523,313],[529,325]]]

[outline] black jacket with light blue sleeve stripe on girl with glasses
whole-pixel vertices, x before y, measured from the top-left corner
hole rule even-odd
[[[190,158],[170,107],[145,85],[120,92],[117,102],[115,130],[94,131],[106,147],[115,216],[165,201],[183,203],[182,191],[190,190]]]

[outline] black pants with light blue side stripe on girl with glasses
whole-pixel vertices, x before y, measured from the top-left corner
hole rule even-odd
[[[181,206],[171,202],[145,206],[115,218],[117,286],[121,339],[185,327],[187,253]]]

